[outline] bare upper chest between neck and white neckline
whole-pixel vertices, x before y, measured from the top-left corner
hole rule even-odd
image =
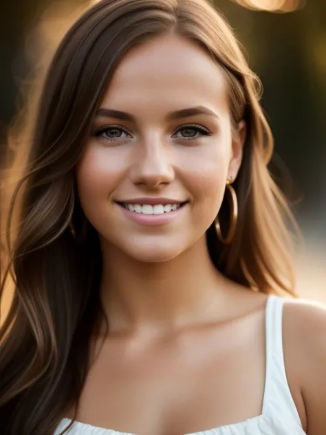
[[[265,383],[262,326],[257,316],[246,325],[215,326],[151,346],[105,343],[76,420],[133,434],[180,435],[258,416]]]

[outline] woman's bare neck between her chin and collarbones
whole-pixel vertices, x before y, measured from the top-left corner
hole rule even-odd
[[[110,332],[169,330],[200,321],[219,304],[227,280],[210,260],[206,238],[167,262],[143,263],[102,246],[101,297]]]

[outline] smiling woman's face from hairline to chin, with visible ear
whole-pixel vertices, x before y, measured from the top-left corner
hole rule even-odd
[[[120,63],[77,168],[80,202],[102,246],[162,262],[215,220],[241,164],[226,81],[204,50],[153,39]]]

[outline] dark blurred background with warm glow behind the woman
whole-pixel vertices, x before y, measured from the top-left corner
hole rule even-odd
[[[275,138],[271,169],[285,182],[306,242],[305,253],[296,258],[298,293],[326,303],[326,1],[214,3],[263,81],[261,103]],[[85,0],[1,0],[0,169],[21,81],[85,4]],[[14,152],[19,149],[12,150],[12,157]]]

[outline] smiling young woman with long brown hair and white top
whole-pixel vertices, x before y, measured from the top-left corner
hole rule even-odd
[[[325,308],[291,297],[259,81],[213,7],[96,3],[24,126],[1,434],[325,434]]]

